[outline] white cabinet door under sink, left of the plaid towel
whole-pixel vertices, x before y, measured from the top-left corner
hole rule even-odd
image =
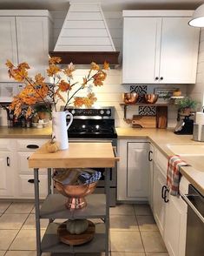
[[[166,204],[164,203],[164,200],[161,198],[161,190],[163,185],[166,185],[166,177],[161,172],[160,167],[155,164],[153,185],[153,213],[156,224],[161,232],[161,236],[163,236],[164,233],[164,220],[166,212]]]

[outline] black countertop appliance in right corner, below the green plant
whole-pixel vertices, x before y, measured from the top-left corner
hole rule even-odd
[[[194,131],[194,120],[189,116],[181,116],[178,114],[177,125],[175,126],[175,134],[193,134]]]

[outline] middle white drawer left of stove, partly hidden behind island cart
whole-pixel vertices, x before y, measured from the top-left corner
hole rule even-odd
[[[28,158],[33,152],[17,152],[17,165],[19,174],[32,174],[33,169],[29,168]],[[47,169],[42,168],[39,171],[40,174],[47,174]]]

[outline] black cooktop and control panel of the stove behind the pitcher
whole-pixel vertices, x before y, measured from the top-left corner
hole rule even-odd
[[[117,138],[113,107],[67,110],[74,116],[69,138]]]

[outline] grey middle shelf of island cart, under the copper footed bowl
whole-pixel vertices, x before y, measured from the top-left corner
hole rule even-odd
[[[40,209],[41,219],[103,219],[106,216],[105,194],[86,197],[87,206],[80,210],[68,210],[67,198],[61,194],[49,194]]]

